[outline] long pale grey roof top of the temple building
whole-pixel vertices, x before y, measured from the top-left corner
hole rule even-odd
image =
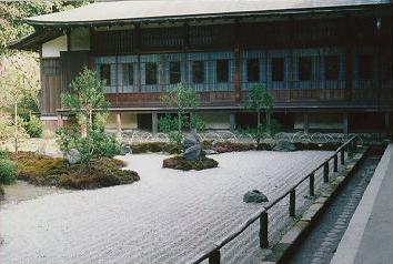
[[[391,4],[391,0],[134,0],[95,2],[27,19],[31,24],[103,24],[246,14],[298,13]]]

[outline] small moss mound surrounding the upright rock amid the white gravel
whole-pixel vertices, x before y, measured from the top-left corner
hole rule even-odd
[[[198,161],[188,161],[181,155],[172,156],[169,159],[163,160],[162,167],[170,167],[174,170],[181,171],[201,171],[205,169],[216,167],[219,162],[214,161],[213,159],[201,156]]]

